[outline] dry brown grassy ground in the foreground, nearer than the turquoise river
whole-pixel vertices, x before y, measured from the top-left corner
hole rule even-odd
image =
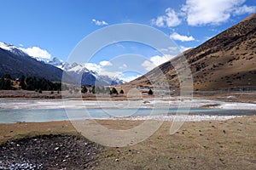
[[[113,129],[128,129],[142,123],[140,121],[117,121],[98,120],[102,126]],[[89,160],[83,165],[92,169],[255,169],[256,168],[256,116],[236,117],[227,121],[211,122],[184,122],[177,133],[170,135],[171,122],[164,124],[148,139],[143,142],[126,147],[103,147],[97,144],[96,158]],[[65,168],[71,169],[74,161],[81,161],[85,152],[74,155],[74,150],[81,150],[81,141],[73,140],[71,150],[65,150],[65,143],[56,143],[53,135],[44,139],[46,144],[54,144],[54,148],[40,144],[30,138],[43,134],[65,134],[68,136],[80,136],[74,129],[71,122],[17,122],[14,124],[0,124],[0,141],[5,143],[15,139],[26,139],[28,143],[37,143],[37,162],[42,167],[49,166],[51,162],[40,162],[43,159],[44,151],[49,151],[49,160],[55,164],[51,169]],[[28,139],[27,139],[28,138]],[[61,137],[60,137],[61,138]],[[70,137],[67,137],[69,139]],[[39,138],[40,139],[40,138]],[[33,142],[34,141],[34,142]],[[84,143],[88,143],[84,139]],[[15,140],[12,144],[18,144]],[[59,145],[58,145],[59,144]],[[62,144],[62,145],[61,145]],[[14,155],[19,155],[20,150],[26,150],[22,143],[13,146]],[[64,148],[63,148],[64,147]],[[20,149],[19,149],[20,148]],[[49,150],[51,148],[52,150]],[[57,148],[57,149],[56,149]],[[22,154],[22,160],[35,162],[29,154]],[[83,150],[89,150],[84,147]],[[62,152],[61,152],[62,151]],[[0,147],[3,153],[3,147]],[[68,155],[63,161],[62,156]],[[20,155],[21,156],[21,155]],[[1,159],[1,158],[0,158]],[[11,159],[11,158],[10,158]],[[12,158],[15,160],[15,156]],[[19,158],[20,159],[20,158]],[[9,160],[11,162],[11,160]],[[6,162],[6,160],[5,160]],[[0,165],[3,164],[0,160]],[[16,162],[20,163],[20,162]],[[80,162],[82,163],[82,162]],[[77,167],[83,169],[84,167]]]

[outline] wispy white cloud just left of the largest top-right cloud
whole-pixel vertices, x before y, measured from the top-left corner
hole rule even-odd
[[[152,20],[152,24],[159,27],[178,26],[180,23],[181,20],[178,18],[178,14],[172,8],[166,8],[165,15],[160,15]]]

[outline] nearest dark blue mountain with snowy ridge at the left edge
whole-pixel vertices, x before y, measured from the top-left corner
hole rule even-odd
[[[11,77],[44,77],[51,81],[60,82],[63,74],[61,69],[38,61],[20,48],[0,42],[0,76],[9,74]]]

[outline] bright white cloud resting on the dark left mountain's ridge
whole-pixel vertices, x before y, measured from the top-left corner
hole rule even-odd
[[[42,59],[50,59],[51,55],[46,51],[45,49],[41,49],[38,47],[32,47],[32,48],[20,48],[23,52],[26,54],[32,56],[32,57],[38,57]]]

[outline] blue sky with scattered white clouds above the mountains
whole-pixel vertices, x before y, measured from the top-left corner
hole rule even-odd
[[[256,12],[255,0],[0,0],[0,3],[0,42],[14,44],[34,57],[57,57],[63,61],[70,58],[84,38],[109,26],[124,23],[151,26],[165,33],[182,52]],[[114,42],[85,59],[84,65],[130,81],[174,55],[163,54],[140,42]],[[137,62],[132,62],[133,59]],[[113,69],[114,63],[119,66]]]

